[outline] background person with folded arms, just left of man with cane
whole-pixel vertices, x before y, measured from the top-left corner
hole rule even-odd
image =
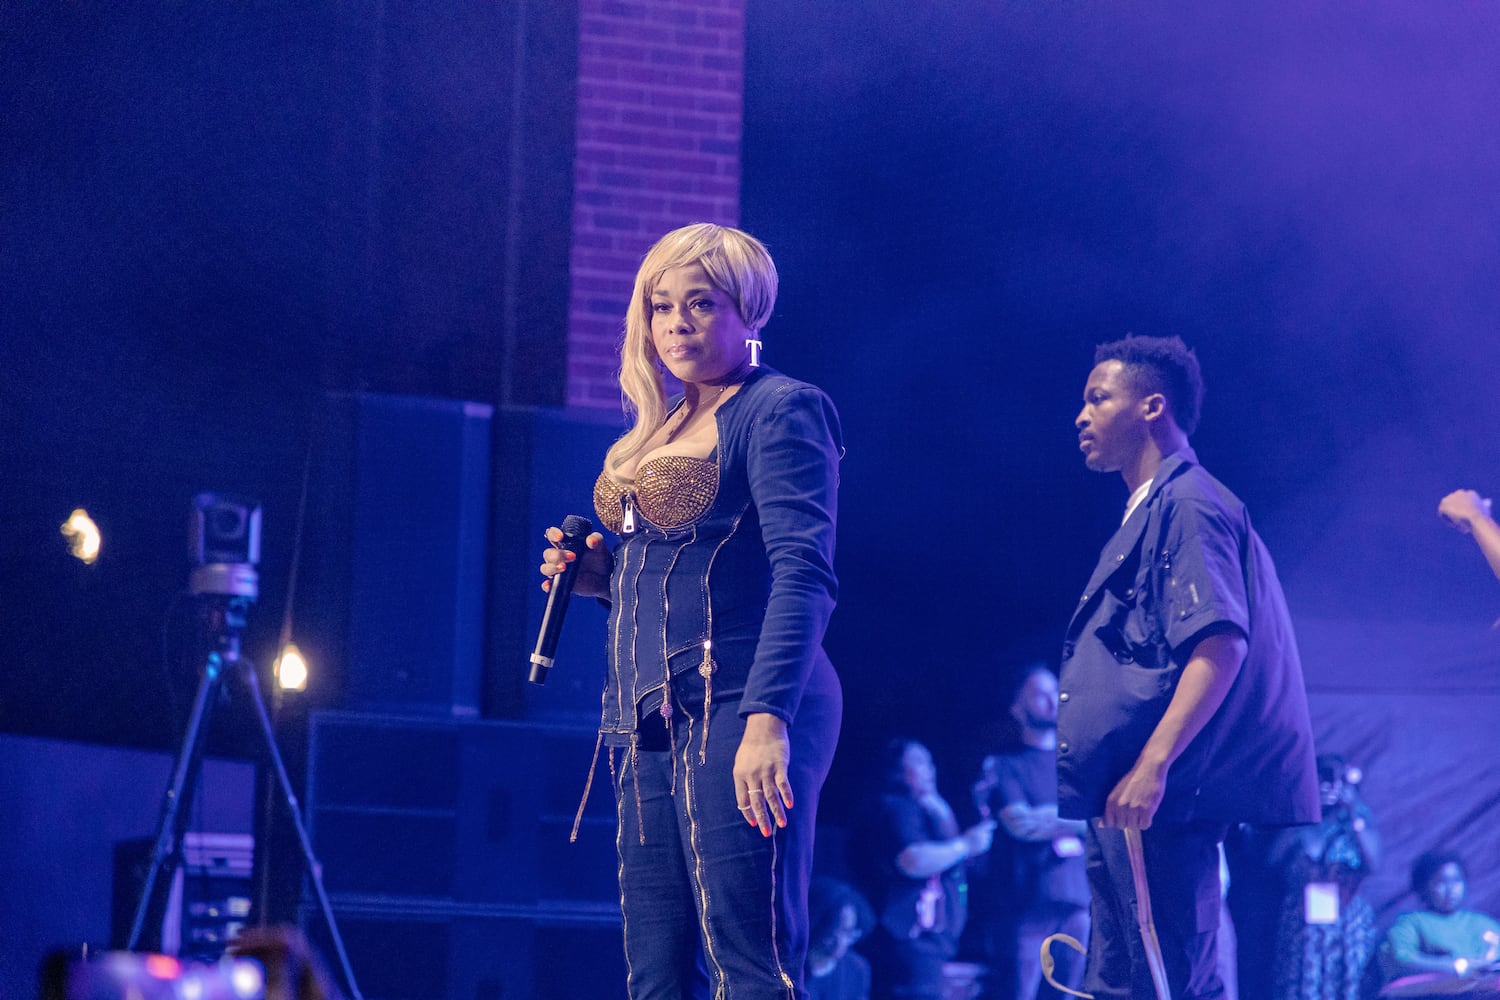
[[[999,840],[975,879],[982,900],[984,952],[996,997],[1035,1000],[1041,987],[1041,943],[1068,934],[1089,943],[1089,876],[1083,864],[1086,823],[1058,817],[1058,678],[1046,663],[1020,673],[1010,702],[1010,745],[980,766],[974,802],[999,820]],[[1083,957],[1052,949],[1053,978],[1070,990],[1083,982]],[[1010,970],[1008,982],[998,973]],[[1056,996],[1052,987],[1044,996]]]

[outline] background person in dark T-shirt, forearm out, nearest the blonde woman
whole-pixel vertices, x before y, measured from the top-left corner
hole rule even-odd
[[[878,918],[866,951],[873,996],[942,1000],[944,963],[968,919],[964,862],[990,849],[994,820],[960,832],[938,793],[932,753],[914,739],[886,747],[882,775],[884,793],[858,846]]]

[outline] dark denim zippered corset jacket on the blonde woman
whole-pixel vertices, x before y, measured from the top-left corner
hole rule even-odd
[[[636,732],[638,714],[670,715],[668,681],[687,672],[705,712],[738,700],[740,715],[792,723],[814,673],[832,670],[838,414],[819,388],[759,367],[714,418],[708,510],[672,529],[636,517],[615,550],[606,738]]]

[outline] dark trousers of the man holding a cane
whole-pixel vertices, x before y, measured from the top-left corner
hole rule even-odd
[[[1152,823],[1142,831],[1150,916],[1173,1000],[1224,996],[1216,957],[1224,834],[1222,823]],[[1155,997],[1125,832],[1089,820],[1088,864],[1092,927],[1083,993],[1098,1000]]]

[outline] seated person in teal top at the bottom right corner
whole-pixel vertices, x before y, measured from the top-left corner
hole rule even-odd
[[[1402,913],[1380,945],[1384,978],[1440,973],[1473,976],[1500,961],[1500,922],[1464,910],[1467,871],[1454,852],[1430,850],[1412,865],[1412,892],[1424,909]]]

